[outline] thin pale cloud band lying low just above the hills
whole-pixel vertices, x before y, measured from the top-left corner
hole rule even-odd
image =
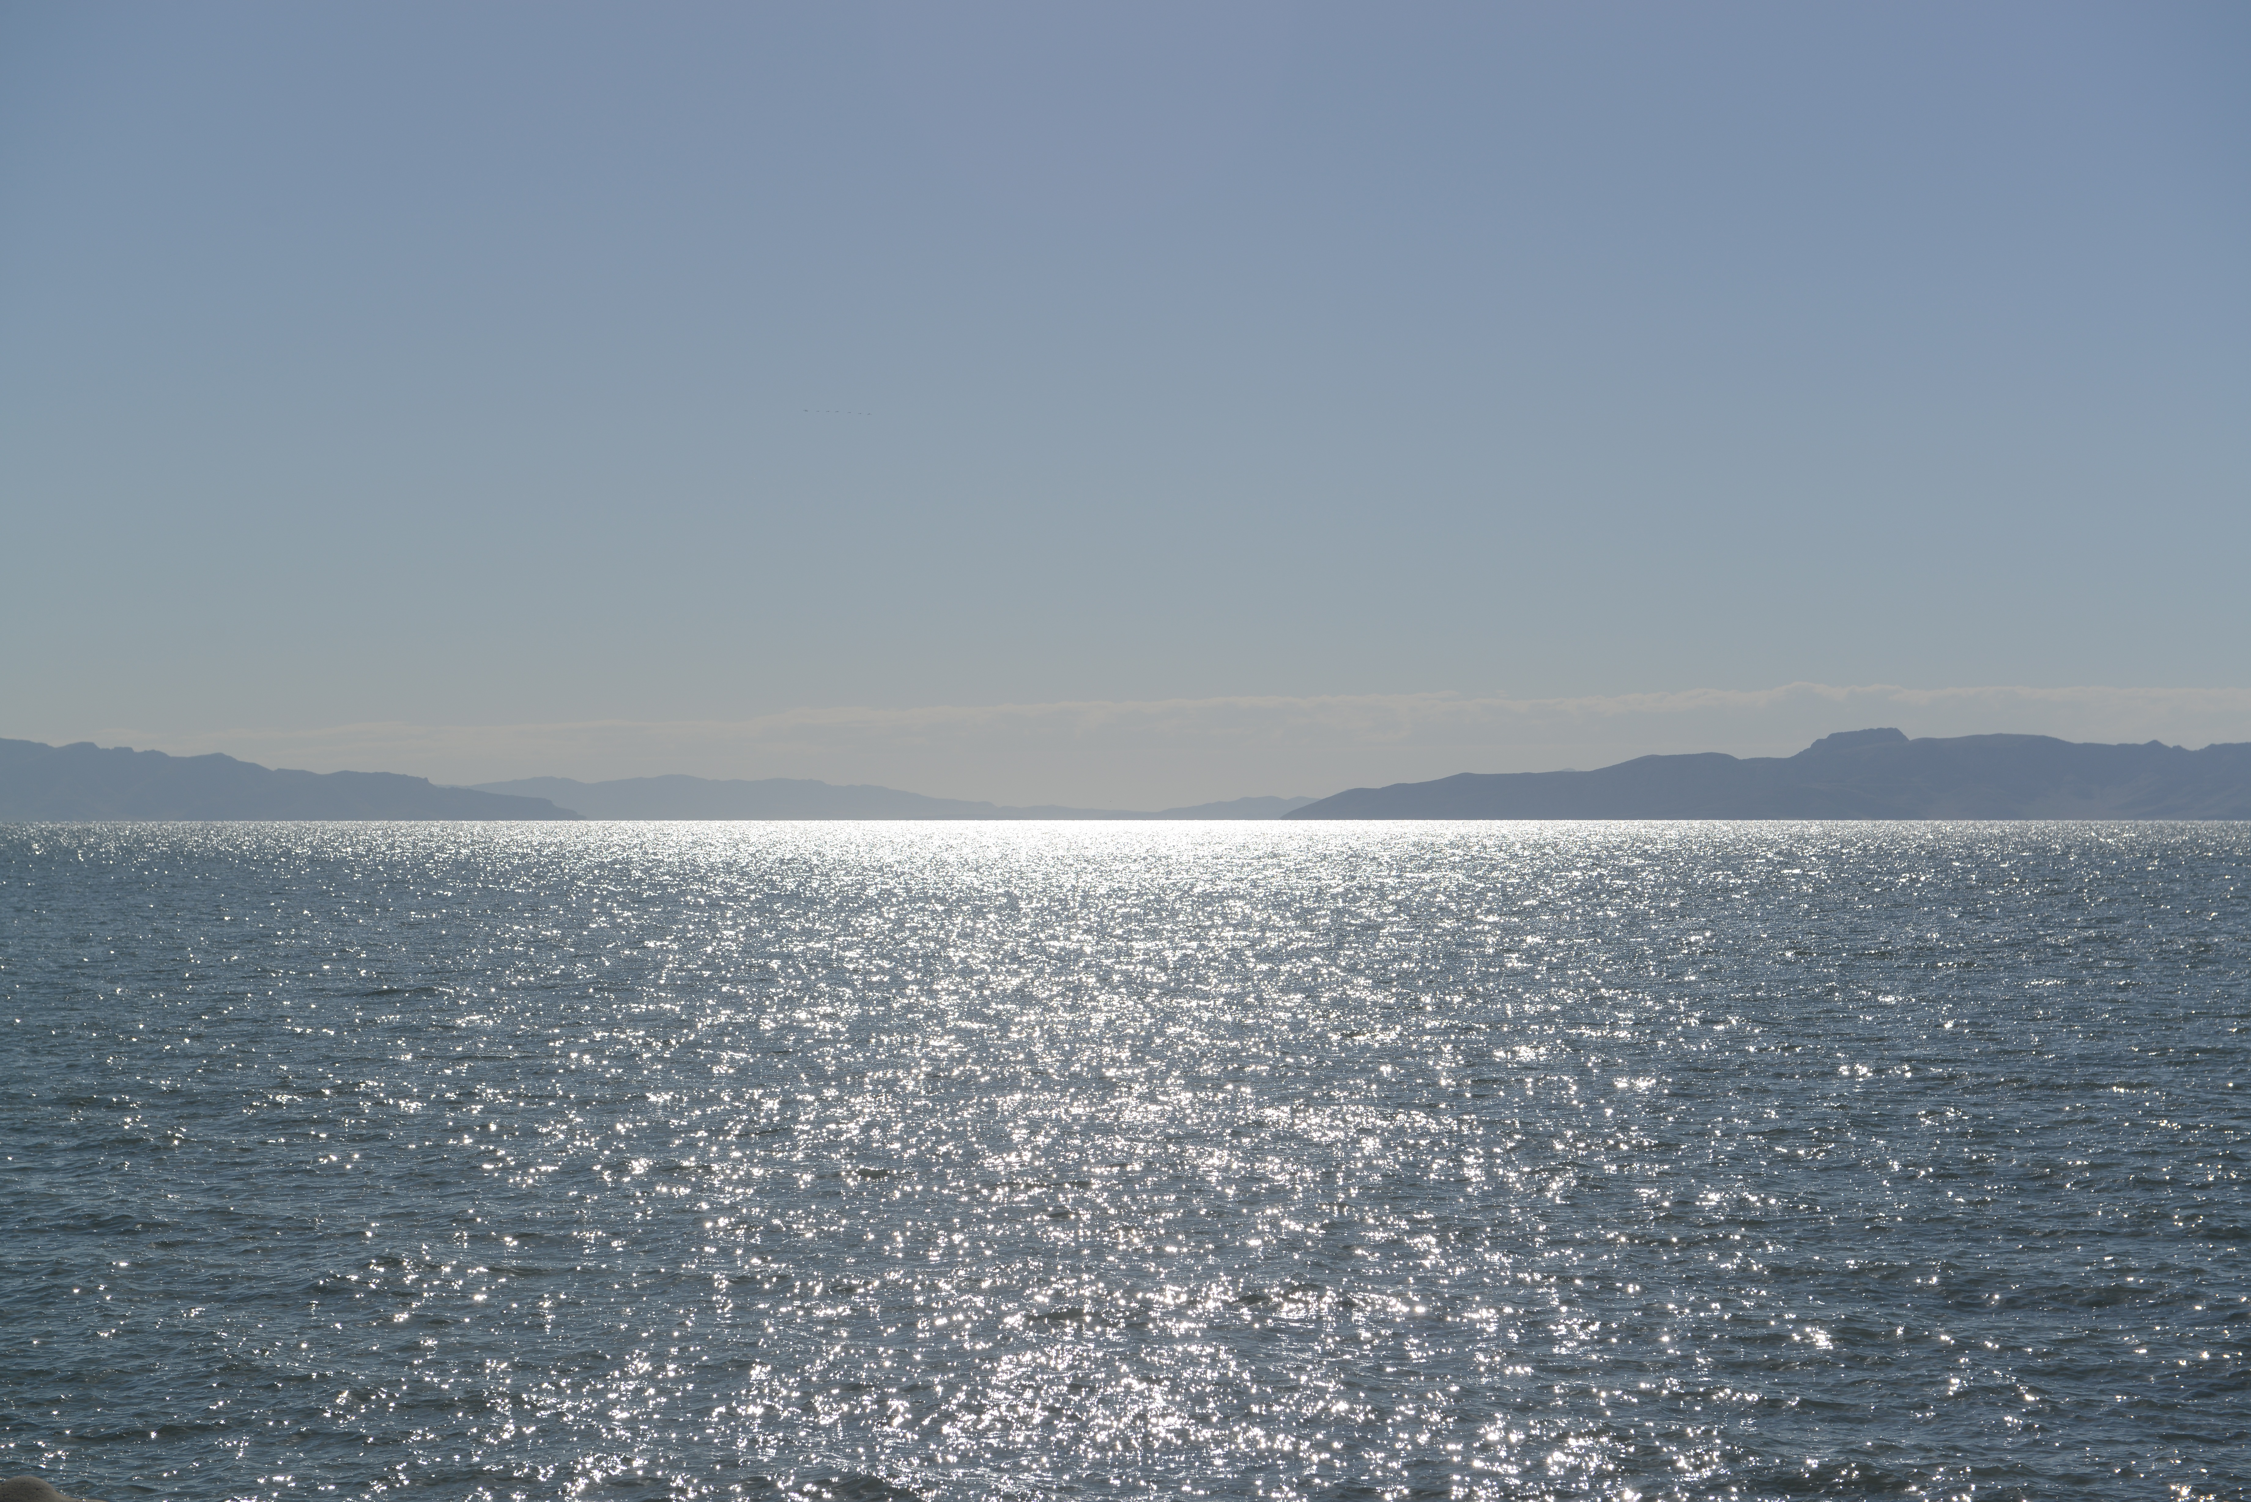
[[[2251,741],[2251,689],[1792,682],[1585,698],[1335,694],[808,707],[738,721],[362,723],[189,736],[108,727],[68,739],[452,784],[689,772],[1162,808],[1452,772],[1589,768],[1652,752],[1774,757],[1866,725],[1898,725],[1911,736],[2017,732],[2208,745]]]

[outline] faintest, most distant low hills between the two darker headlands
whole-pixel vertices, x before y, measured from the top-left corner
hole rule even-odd
[[[515,781],[484,781],[477,784],[477,790],[542,797],[590,820],[1279,820],[1312,802],[1310,797],[1236,797],[1225,804],[1195,804],[1162,813],[1051,804],[1008,808],[959,797],[923,797],[869,784],[840,788],[801,777],[761,777],[756,781],[520,777]]]

